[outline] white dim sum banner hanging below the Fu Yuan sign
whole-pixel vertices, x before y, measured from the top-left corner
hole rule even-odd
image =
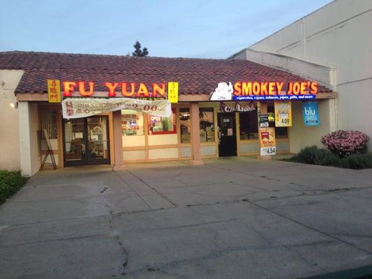
[[[137,110],[138,112],[163,117],[169,117],[172,114],[168,100],[66,98],[62,101],[62,113],[65,119],[87,117],[115,110]]]

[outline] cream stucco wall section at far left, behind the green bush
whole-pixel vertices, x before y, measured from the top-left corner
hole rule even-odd
[[[15,88],[23,70],[0,70],[0,169],[20,169],[20,145],[18,133],[18,110],[15,104]]]

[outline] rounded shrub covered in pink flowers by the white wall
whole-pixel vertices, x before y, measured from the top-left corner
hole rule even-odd
[[[324,135],[322,144],[332,153],[341,158],[355,153],[366,153],[369,137],[359,131],[338,130]]]

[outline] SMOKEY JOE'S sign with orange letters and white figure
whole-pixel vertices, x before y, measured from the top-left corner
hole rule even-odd
[[[304,100],[317,93],[317,82],[220,82],[210,100]]]

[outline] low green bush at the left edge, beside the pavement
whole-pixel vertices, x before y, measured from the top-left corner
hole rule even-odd
[[[26,181],[21,172],[0,170],[0,204],[17,193]]]

